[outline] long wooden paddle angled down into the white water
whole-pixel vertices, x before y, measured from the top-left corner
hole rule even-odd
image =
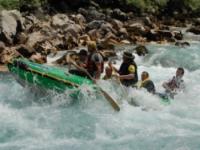
[[[89,74],[89,72],[88,72],[86,69],[84,69],[84,68],[78,66],[78,65],[76,64],[76,62],[74,62],[74,61],[71,60],[70,58],[69,58],[68,62],[71,62],[71,64],[74,65],[78,70],[85,72],[85,73],[88,75],[88,77],[93,81],[93,83],[96,84],[96,85],[98,86],[98,84],[95,82],[95,80],[93,79],[93,77]],[[104,97],[106,98],[106,100],[107,100],[107,101],[111,104],[111,106],[114,108],[114,110],[115,110],[115,111],[120,111],[120,107],[119,107],[119,105],[116,103],[116,101],[115,101],[106,91],[104,91],[100,86],[98,86],[98,88],[100,89],[100,91],[102,92],[102,94],[104,95]]]

